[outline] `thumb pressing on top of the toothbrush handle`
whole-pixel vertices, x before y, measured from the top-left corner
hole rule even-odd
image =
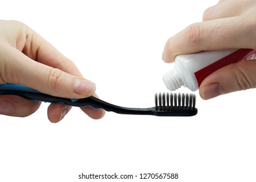
[[[17,49],[1,68],[4,83],[25,85],[45,94],[62,98],[86,98],[95,92],[95,84],[58,68],[36,62]]]

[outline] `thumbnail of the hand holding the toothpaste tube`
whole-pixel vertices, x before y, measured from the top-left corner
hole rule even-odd
[[[221,85],[219,85],[219,83],[212,83],[210,85],[204,86],[202,91],[202,98],[207,100],[216,98],[222,94],[224,94],[224,90]]]

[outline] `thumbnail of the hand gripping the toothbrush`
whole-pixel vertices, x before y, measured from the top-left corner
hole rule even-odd
[[[74,92],[83,96],[91,96],[95,92],[95,83],[86,79],[76,79],[74,82]]]

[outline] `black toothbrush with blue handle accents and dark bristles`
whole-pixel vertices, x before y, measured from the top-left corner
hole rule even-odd
[[[23,85],[4,84],[0,85],[0,95],[16,95],[33,101],[44,101],[49,103],[63,103],[75,107],[93,107],[104,109],[118,114],[138,114],[153,116],[194,116],[197,114],[195,108],[195,94],[159,93],[155,94],[155,107],[129,108],[120,107],[107,103],[101,99],[90,96],[83,99],[59,98],[43,94]]]

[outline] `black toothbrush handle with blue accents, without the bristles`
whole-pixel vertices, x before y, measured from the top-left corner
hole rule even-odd
[[[16,95],[21,96],[25,99],[30,99],[33,101],[44,101],[49,103],[63,103],[65,105],[71,105],[75,107],[92,107],[93,109],[104,109],[106,111],[112,111],[119,114],[139,114],[139,115],[154,115],[154,116],[193,116],[197,114],[197,109],[193,110],[158,110],[156,107],[149,108],[129,108],[120,107],[118,105],[113,105],[107,103],[99,98],[89,96],[88,98],[82,99],[69,99],[69,98],[59,98],[56,96],[50,96],[48,94],[43,94],[32,88],[28,88],[23,85],[13,85],[5,84],[0,85],[0,95]]]

